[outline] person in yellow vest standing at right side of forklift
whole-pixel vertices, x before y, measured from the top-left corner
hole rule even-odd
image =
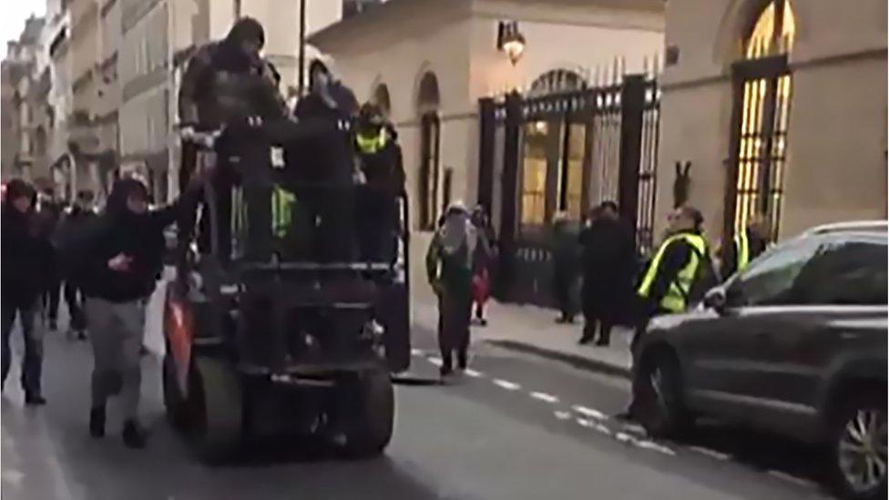
[[[361,259],[392,262],[398,214],[396,197],[404,192],[402,148],[379,107],[367,103],[358,112],[355,130],[360,179],[358,230]]]

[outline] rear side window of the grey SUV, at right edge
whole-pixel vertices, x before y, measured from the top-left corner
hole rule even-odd
[[[825,241],[798,276],[797,303],[885,305],[886,243],[879,240]]]

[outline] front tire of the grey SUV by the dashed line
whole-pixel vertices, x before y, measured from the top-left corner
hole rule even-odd
[[[642,359],[639,374],[639,423],[653,437],[679,438],[690,432],[694,419],[682,401],[682,376],[676,355],[669,351],[651,352]],[[659,391],[651,382],[660,373]],[[660,393],[660,395],[659,395]]]

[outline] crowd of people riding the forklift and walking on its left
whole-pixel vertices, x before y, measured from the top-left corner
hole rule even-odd
[[[193,140],[199,131],[237,131],[266,123],[271,124],[269,135],[283,130],[301,138],[284,147],[285,155],[297,155],[307,166],[298,180],[341,188],[297,193],[303,218],[312,221],[318,234],[312,238],[314,257],[395,259],[401,230],[395,200],[404,191],[404,168],[394,128],[379,107],[359,107],[352,91],[321,59],[309,68],[309,93],[289,108],[279,90],[280,74],[261,56],[264,42],[261,24],[243,17],[223,40],[199,47],[191,56],[179,95],[183,189],[169,205],[149,208],[148,187],[135,178],[116,180],[98,212],[87,191],[63,210],[52,193],[38,201],[25,180],[7,184],[2,203],[3,379],[12,363],[10,337],[17,319],[25,344],[21,383],[26,404],[46,403],[41,387],[43,338],[56,330],[64,290],[69,335],[88,339],[92,346],[89,433],[105,435],[107,399],[118,396],[124,444],[146,444],[138,422],[139,356],[146,306],[164,266],[164,230],[178,225],[177,264],[189,258],[195,233],[199,252],[209,251],[212,231],[201,215],[206,211],[199,209],[208,185],[222,188],[216,191],[219,220],[231,219],[231,199],[222,193],[235,172],[224,163],[201,168]],[[238,142],[231,141],[229,147]],[[268,149],[264,156],[270,158]],[[353,189],[358,185],[363,189]],[[355,224],[356,218],[362,223]],[[361,230],[355,231],[356,226]],[[224,257],[230,255],[230,232],[225,231],[231,228],[218,227],[219,254]]]

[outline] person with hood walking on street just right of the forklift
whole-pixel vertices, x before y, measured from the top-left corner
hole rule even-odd
[[[455,202],[445,211],[444,224],[426,252],[426,275],[438,297],[443,380],[454,371],[455,352],[460,370],[465,370],[468,362],[473,261],[476,251],[486,251],[484,247],[469,211]]]

